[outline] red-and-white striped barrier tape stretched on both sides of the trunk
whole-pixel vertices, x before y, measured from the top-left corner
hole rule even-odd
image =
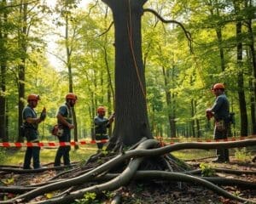
[[[250,135],[247,137],[236,137],[236,138],[228,138],[228,139],[201,139],[201,138],[160,138],[156,137],[163,144],[175,144],[175,143],[183,143],[183,142],[228,142],[228,141],[238,141],[244,139],[256,139],[256,135]],[[85,144],[96,144],[96,143],[107,143],[108,139],[102,140],[87,140],[87,141],[79,141],[79,142],[38,142],[38,143],[10,143],[10,142],[2,142],[0,143],[0,147],[56,147],[56,146],[67,146],[67,145],[85,145]]]

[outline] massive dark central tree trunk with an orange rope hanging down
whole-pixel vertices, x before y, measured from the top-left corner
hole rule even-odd
[[[113,11],[115,28],[116,120],[108,146],[113,148],[114,144],[131,145],[143,137],[152,138],[141,45],[141,17],[146,0],[102,1]]]

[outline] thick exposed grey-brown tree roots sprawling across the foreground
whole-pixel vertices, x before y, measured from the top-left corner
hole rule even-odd
[[[80,199],[84,197],[84,194],[87,192],[95,192],[96,194],[102,193],[104,190],[117,190],[119,187],[129,184],[129,182],[135,179],[150,178],[150,179],[163,179],[175,182],[186,182],[192,184],[201,184],[206,188],[213,190],[218,193],[218,195],[224,195],[227,198],[234,199],[237,201],[248,201],[247,199],[236,197],[231,195],[229,192],[219,188],[215,184],[230,184],[230,182],[237,182],[237,185],[240,186],[250,186],[255,188],[255,184],[249,184],[245,182],[236,181],[236,179],[223,179],[221,182],[219,179],[215,178],[199,178],[186,173],[177,173],[184,172],[189,170],[189,166],[183,161],[177,160],[172,155],[168,155],[169,152],[174,150],[183,150],[183,149],[216,149],[219,147],[234,148],[248,145],[255,145],[256,139],[247,139],[243,141],[236,142],[225,142],[225,143],[184,143],[184,144],[172,144],[165,147],[159,147],[158,141],[154,139],[148,139],[143,141],[143,143],[137,146],[136,150],[129,150],[127,152],[122,152],[121,154],[115,156],[102,163],[102,165],[95,167],[93,169],[84,170],[84,173],[81,175],[75,174],[74,172],[79,171],[79,168],[76,168],[75,171],[70,170],[69,173],[73,174],[73,178],[68,178],[65,180],[51,180],[51,184],[44,184],[40,187],[35,188],[35,186],[26,186],[20,187],[20,193],[24,192],[22,190],[30,190],[24,194],[21,194],[14,199],[9,201],[2,201],[1,203],[27,203],[32,199],[36,198],[38,195],[44,195],[55,190],[61,190],[61,195],[56,195],[54,198],[39,201],[37,203],[69,203],[75,199]],[[158,147],[158,148],[157,148]],[[162,156],[164,155],[164,156]],[[154,160],[153,163],[149,161]],[[128,164],[129,163],[129,164]],[[124,165],[127,165],[123,169]],[[156,167],[155,167],[156,166]],[[153,171],[138,171],[142,167],[146,167],[147,170],[152,169]],[[144,168],[142,168],[144,169]],[[88,172],[89,171],[89,172]],[[169,172],[166,172],[169,171]],[[172,172],[173,171],[173,172]],[[223,172],[224,169],[221,169]],[[114,172],[120,172],[119,174],[112,174],[114,177],[111,177],[111,174]],[[237,171],[235,171],[237,173]],[[31,173],[31,172],[30,172]],[[79,173],[79,172],[77,172]],[[108,174],[106,174],[108,173]],[[192,173],[191,171],[189,173]],[[103,184],[95,184],[90,187],[84,187],[84,184],[90,181],[96,181],[107,179],[107,182]],[[212,184],[214,183],[214,184]],[[232,183],[234,185],[234,183]],[[28,188],[28,189],[26,189]],[[79,189],[84,188],[84,189]],[[8,189],[5,189],[6,191]],[[10,189],[9,189],[10,190]],[[6,192],[5,191],[5,192]],[[63,192],[64,191],[64,192]],[[253,202],[253,201],[251,201]],[[33,202],[34,203],[34,202]],[[256,203],[256,202],[253,202]]]

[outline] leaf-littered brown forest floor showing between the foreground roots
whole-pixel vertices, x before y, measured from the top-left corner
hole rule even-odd
[[[228,168],[236,169],[240,171],[254,171],[253,175],[234,175],[228,173],[215,173],[218,177],[225,178],[238,178],[241,180],[250,181],[256,183],[256,163],[252,161],[237,161],[235,156],[230,156],[230,162],[228,163],[212,163],[214,158],[206,158],[203,160],[192,160],[187,161],[190,165],[195,168],[199,168],[201,163],[210,165],[212,168]],[[39,184],[44,183],[56,175],[56,171],[50,170],[44,173],[24,173],[24,174],[14,174],[14,173],[1,173],[0,181],[2,184],[9,183],[8,185],[28,185],[28,184]],[[0,184],[0,185],[2,185]],[[236,186],[224,186],[224,190],[229,191],[234,195],[239,195],[243,198],[247,198],[256,202],[256,190],[242,190]],[[211,190],[207,190],[196,184],[180,184],[176,183],[164,183],[162,181],[154,182],[131,182],[128,186],[125,186],[118,190],[119,194],[122,195],[122,203],[125,204],[172,204],[172,203],[189,203],[189,204],[199,204],[199,203],[241,203],[239,201],[231,201],[223,196],[219,196]],[[2,196],[1,196],[2,195]],[[9,194],[9,198],[13,195]],[[51,196],[51,195],[46,195]],[[38,197],[35,201],[44,200],[45,196]],[[0,192],[0,203],[3,201],[3,194]],[[82,203],[82,202],[79,202]],[[85,203],[85,202],[84,202]],[[110,203],[110,202],[92,202],[92,203]]]

